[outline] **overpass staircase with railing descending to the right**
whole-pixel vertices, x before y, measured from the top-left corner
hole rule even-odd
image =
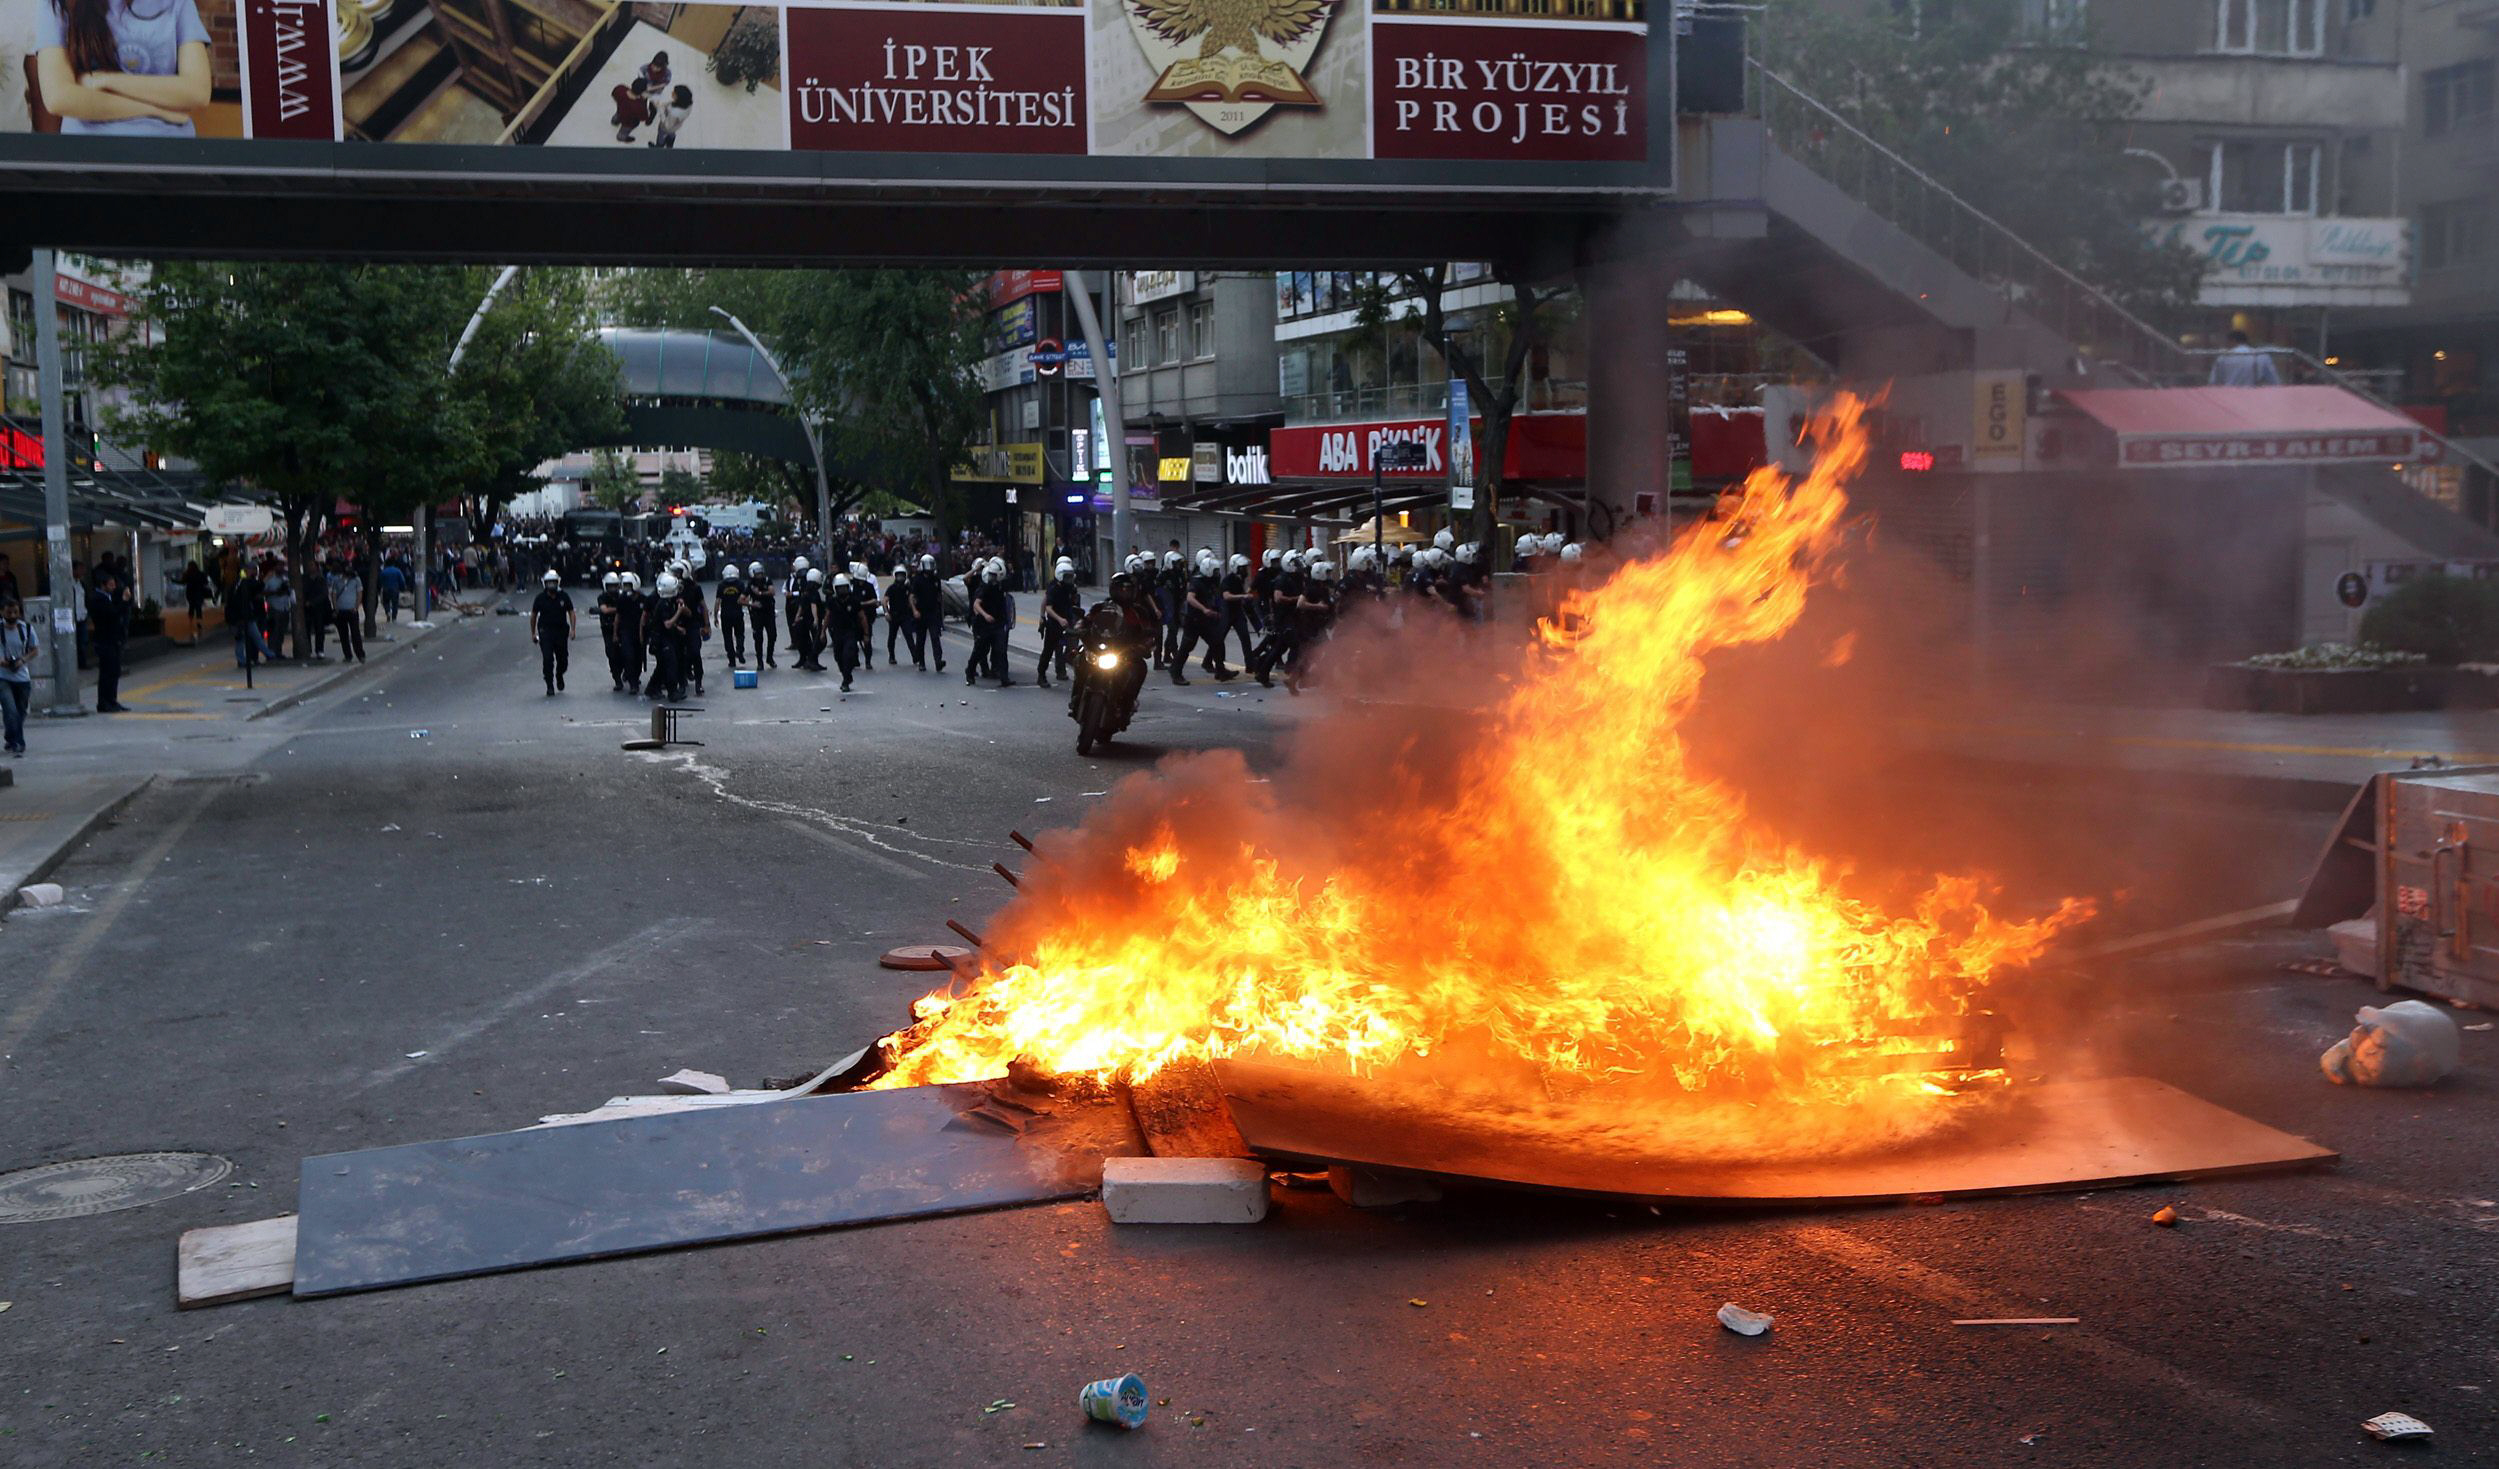
[[[1677,245],[1684,275],[1859,377],[2019,367],[2049,387],[2207,382],[2212,352],[2179,345],[1759,60],[1744,67],[1747,112],[1709,117],[1687,147],[1687,172],[1702,175],[1687,197],[1704,222]],[[1712,227],[1712,207],[1752,222]],[[2277,365],[2394,410],[2307,352],[2277,350]],[[2422,432],[2479,482],[2477,497],[2499,490],[2499,465]],[[2419,467],[2409,477],[2422,487]]]

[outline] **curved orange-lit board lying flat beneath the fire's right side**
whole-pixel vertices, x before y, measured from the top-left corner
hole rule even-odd
[[[1587,1127],[1489,1127],[1422,1087],[1269,1062],[1217,1062],[1250,1149],[1294,1164],[1364,1164],[1569,1194],[1719,1204],[1844,1204],[1924,1194],[2029,1194],[2332,1162],[2334,1152],[2149,1077],[2039,1082],[1964,1134],[1857,1157],[1692,1162],[1644,1154],[1619,1104]],[[1494,1112],[1492,1117],[1502,1117]],[[1564,1117],[1567,1122],[1567,1117]]]

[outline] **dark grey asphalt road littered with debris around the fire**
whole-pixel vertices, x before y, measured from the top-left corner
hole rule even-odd
[[[305,1154],[520,1127],[677,1067],[755,1084],[892,1029],[875,967],[1005,899],[1010,827],[1322,697],[1155,687],[1077,759],[1057,700],[880,670],[712,690],[700,749],[577,647],[482,620],[170,772],[0,932],[0,1169],[235,1159],[232,1187],[0,1227],[0,1462],[50,1464],[2372,1464],[2424,1417],[2499,1462],[2499,1034],[2434,1094],[2327,1087],[2372,999],[2239,942],[2029,999],[2047,1057],[2342,1149],[2329,1172],[1827,1214],[1452,1197],[1257,1229],[1095,1204],[177,1312],[182,1229],[290,1212]],[[405,667],[402,667],[405,665]],[[1240,690],[1222,690],[1240,695]],[[175,762],[167,754],[167,762]],[[2149,924],[2282,894],[2319,814],[1962,789],[1922,847],[2064,834],[2039,882]],[[2037,844],[2037,842],[2034,842]],[[410,1052],[425,1052],[410,1057]],[[2177,1202],[2187,1224],[2152,1229]],[[1424,1302],[1424,1304],[1412,1304]],[[1719,1302],[1774,1312],[1759,1342]],[[2082,1317],[1954,1332],[1954,1317]],[[1077,1384],[1170,1409],[1085,1429]],[[985,1414],[995,1402],[1012,1409]],[[1027,1444],[1045,1444],[1027,1449]]]

